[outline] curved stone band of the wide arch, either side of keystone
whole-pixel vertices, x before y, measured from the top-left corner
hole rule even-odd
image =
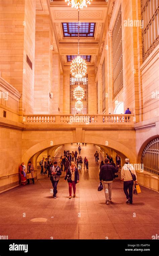
[[[75,143],[73,140],[73,136],[59,136],[59,137],[53,137],[51,138],[53,141],[54,146],[60,146],[63,144],[68,144],[68,143]],[[99,137],[99,136],[92,136],[92,135],[86,135],[84,139],[84,143],[90,143],[90,144],[95,144],[95,145],[101,145],[105,146],[106,141],[109,142],[109,145],[107,147],[115,150],[116,152],[122,153],[124,156],[128,157],[131,161],[131,163],[136,163],[136,155],[134,152],[130,151],[129,148],[127,148],[125,145],[122,143],[109,139],[107,140],[106,137]],[[31,159],[37,152],[46,150],[48,148],[51,148],[50,146],[50,138],[43,140],[41,142],[38,142],[31,148],[29,148],[27,151],[22,156],[22,161],[25,163],[28,163],[29,159]]]

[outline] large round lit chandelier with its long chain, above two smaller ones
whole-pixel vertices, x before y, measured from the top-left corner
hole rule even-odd
[[[71,73],[72,76],[75,78],[82,78],[85,76],[86,71],[87,71],[87,64],[84,59],[81,58],[80,56],[80,22],[79,22],[79,9],[78,9],[78,56],[72,60],[71,63]]]

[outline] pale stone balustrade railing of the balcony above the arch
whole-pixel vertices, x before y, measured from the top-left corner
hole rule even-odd
[[[24,124],[128,124],[135,123],[131,115],[24,115]]]

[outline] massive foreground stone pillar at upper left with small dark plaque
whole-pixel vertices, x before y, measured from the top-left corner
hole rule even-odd
[[[19,114],[33,113],[36,2],[1,1],[1,76],[20,93]],[[27,56],[29,59],[27,59]],[[20,118],[21,121],[21,118]]]

